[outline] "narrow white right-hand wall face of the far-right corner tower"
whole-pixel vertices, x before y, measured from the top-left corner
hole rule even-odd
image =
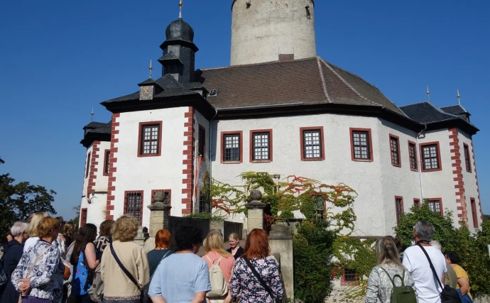
[[[473,160],[473,151],[472,151],[472,138],[464,131],[460,129],[458,131],[459,138],[459,153],[461,153],[461,165],[463,169],[463,181],[464,181],[464,192],[466,196],[466,204],[467,204],[467,214],[468,214],[468,227],[470,231],[476,231],[473,224],[473,213],[472,213],[472,203],[471,198],[474,198],[475,203],[477,204],[477,222],[478,226],[481,226],[481,211],[479,206],[479,193],[477,187],[477,173],[475,172],[474,160]],[[467,172],[466,170],[466,162],[464,160],[464,143],[466,143],[469,147],[469,160],[472,165],[472,171]],[[475,158],[476,155],[475,155]]]

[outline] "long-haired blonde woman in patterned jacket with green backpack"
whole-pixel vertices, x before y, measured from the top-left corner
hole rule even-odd
[[[405,286],[415,289],[415,282],[410,272],[401,264],[396,243],[390,237],[376,241],[376,264],[369,275],[364,302],[390,303],[393,284],[401,286],[402,279]]]

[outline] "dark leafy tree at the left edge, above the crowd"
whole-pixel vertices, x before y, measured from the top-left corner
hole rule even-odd
[[[29,214],[45,211],[56,214],[51,206],[54,201],[53,190],[29,182],[19,182],[9,174],[0,175],[0,236],[2,239],[16,221],[24,221]]]

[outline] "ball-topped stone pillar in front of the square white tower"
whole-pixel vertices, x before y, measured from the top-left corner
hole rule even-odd
[[[168,230],[169,212],[172,206],[163,203],[164,199],[165,194],[163,192],[156,192],[153,195],[155,203],[148,205],[148,209],[150,209],[150,238],[146,241],[146,251],[155,248],[155,236],[160,229]]]

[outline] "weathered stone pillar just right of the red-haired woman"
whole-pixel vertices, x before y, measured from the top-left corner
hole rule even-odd
[[[293,236],[290,235],[288,226],[276,224],[271,226],[269,246],[273,255],[279,255],[277,259],[280,263],[285,294],[292,299],[294,298]]]

